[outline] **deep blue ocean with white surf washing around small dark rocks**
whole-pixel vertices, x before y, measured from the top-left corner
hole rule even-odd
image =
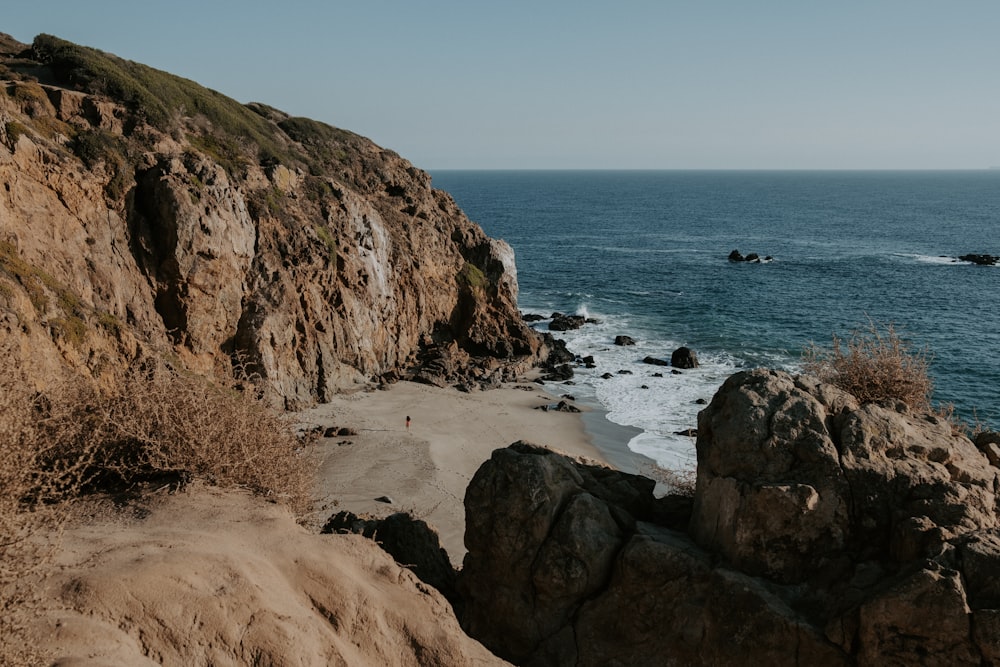
[[[629,447],[662,465],[693,467],[693,440],[675,433],[730,374],[795,369],[809,344],[870,321],[929,351],[936,402],[1000,429],[1000,267],[954,259],[1000,254],[1000,171],[432,177],[513,246],[524,312],[600,320],[557,334],[597,361],[573,393],[641,429]],[[734,249],[773,261],[731,263]],[[654,377],[664,369],[641,363],[682,345],[700,368]]]

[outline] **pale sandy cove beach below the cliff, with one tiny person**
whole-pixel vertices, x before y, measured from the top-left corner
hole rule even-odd
[[[629,430],[586,408],[582,414],[536,409],[557,403],[566,389],[521,382],[463,393],[400,382],[385,390],[338,395],[299,413],[303,425],[357,433],[317,443],[317,509],[308,524],[322,525],[340,510],[375,516],[407,511],[438,530],[452,562],[460,565],[465,489],[493,450],[527,440],[629,467]],[[376,500],[383,496],[392,502]]]

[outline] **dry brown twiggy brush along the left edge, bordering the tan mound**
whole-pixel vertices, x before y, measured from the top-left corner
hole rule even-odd
[[[34,392],[0,355],[0,664],[43,664],[22,639],[67,515],[81,492],[149,488],[194,475],[309,506],[312,467],[288,424],[250,390],[147,363],[110,390]]]

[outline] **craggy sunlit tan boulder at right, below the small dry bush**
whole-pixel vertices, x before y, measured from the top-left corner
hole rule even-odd
[[[997,523],[997,471],[950,424],[805,376],[737,373],[698,434],[692,535],[747,572],[794,582],[845,557],[929,557]]]

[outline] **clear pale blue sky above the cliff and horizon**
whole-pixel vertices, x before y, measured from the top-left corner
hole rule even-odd
[[[424,169],[1000,165],[997,0],[16,4]]]

